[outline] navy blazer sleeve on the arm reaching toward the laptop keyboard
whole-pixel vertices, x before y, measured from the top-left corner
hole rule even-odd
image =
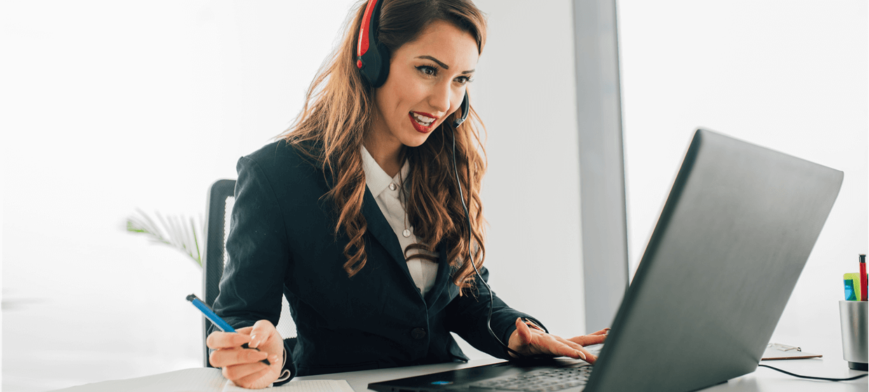
[[[488,269],[480,267],[480,274],[488,283]],[[510,356],[507,350],[498,343],[488,332],[487,318],[489,309],[489,290],[485,284],[480,282],[479,278],[474,279],[476,288],[472,294],[463,293],[461,296],[455,297],[447,306],[447,328],[455,332],[466,342],[471,343],[474,348],[487,353],[496,358],[507,360],[515,360]],[[516,330],[516,318],[528,318],[543,330],[547,330],[539,320],[531,317],[519,310],[514,310],[507,306],[504,301],[492,292],[493,310],[492,310],[492,331],[501,342],[509,343],[510,335]]]

